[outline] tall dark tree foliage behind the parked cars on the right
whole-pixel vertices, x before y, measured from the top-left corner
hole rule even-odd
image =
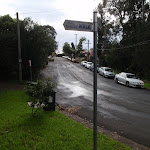
[[[98,32],[100,64],[150,79],[150,3],[144,1],[104,1],[99,5]],[[144,8],[144,10],[143,10]],[[117,19],[110,22],[106,10]],[[120,41],[115,37],[120,37]]]

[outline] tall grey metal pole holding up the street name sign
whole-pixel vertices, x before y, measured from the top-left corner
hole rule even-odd
[[[97,11],[93,12],[93,37],[94,37],[94,73],[93,73],[93,97],[94,97],[94,111],[93,111],[93,123],[94,123],[94,150],[97,150]]]

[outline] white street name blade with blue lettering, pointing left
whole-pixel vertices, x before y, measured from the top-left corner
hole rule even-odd
[[[65,20],[63,25],[64,25],[65,30],[93,32],[92,22]]]

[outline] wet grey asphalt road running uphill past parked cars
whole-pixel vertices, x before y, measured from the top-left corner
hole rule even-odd
[[[77,114],[93,120],[93,72],[65,58],[49,62],[42,76],[57,81],[56,102],[80,106]],[[98,125],[150,147],[150,90],[116,84],[97,74]]]

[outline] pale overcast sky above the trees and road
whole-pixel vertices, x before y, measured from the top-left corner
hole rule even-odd
[[[85,37],[92,48],[92,32],[65,30],[63,23],[65,20],[92,22],[93,10],[100,2],[101,0],[0,0],[0,16],[9,14],[15,18],[18,12],[19,19],[31,17],[41,25],[53,26],[57,32],[56,41],[60,52],[65,42],[76,44],[75,34],[77,42],[81,37]],[[87,47],[87,44],[83,45],[83,48]]]

